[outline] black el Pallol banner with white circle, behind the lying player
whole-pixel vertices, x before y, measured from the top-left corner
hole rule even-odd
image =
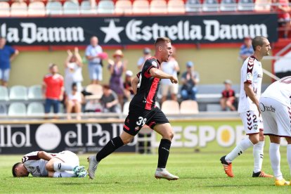
[[[36,150],[96,153],[122,130],[122,123],[5,124],[0,125],[0,154],[24,154]],[[136,139],[117,151],[135,152],[135,145]]]

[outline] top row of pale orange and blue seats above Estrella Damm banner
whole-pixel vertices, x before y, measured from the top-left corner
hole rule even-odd
[[[225,11],[270,11],[270,0],[100,0],[0,1],[0,17],[94,14],[181,14]]]

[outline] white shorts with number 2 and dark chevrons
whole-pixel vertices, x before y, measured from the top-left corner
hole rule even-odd
[[[245,134],[259,134],[259,131],[264,131],[263,120],[259,117],[259,111],[241,112],[240,118],[243,121]]]

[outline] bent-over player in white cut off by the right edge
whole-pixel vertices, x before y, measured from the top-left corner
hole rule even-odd
[[[269,155],[276,186],[290,185],[280,170],[280,138],[287,141],[287,161],[291,169],[291,76],[271,84],[261,95],[259,108],[264,119],[264,134],[270,137]]]

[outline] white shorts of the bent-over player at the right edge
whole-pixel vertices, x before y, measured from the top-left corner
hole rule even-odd
[[[291,108],[273,98],[259,99],[261,116],[264,119],[264,134],[291,137]]]

